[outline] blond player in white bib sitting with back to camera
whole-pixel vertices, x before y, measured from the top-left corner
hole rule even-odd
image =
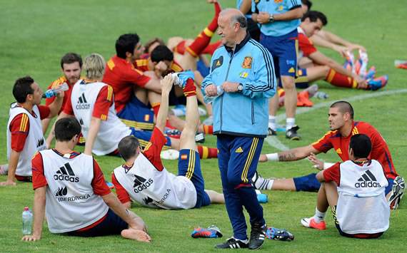
[[[151,131],[126,126],[114,110],[114,93],[111,86],[102,83],[105,62],[103,56],[92,53],[84,61],[86,78],[74,86],[71,99],[59,118],[74,116],[81,123],[86,138],[87,155],[117,155],[119,140],[134,135],[144,147],[151,138]],[[166,147],[179,149],[179,139],[166,137]],[[201,146],[204,153],[206,147]],[[213,149],[211,149],[213,150]],[[216,149],[215,149],[216,150]]]

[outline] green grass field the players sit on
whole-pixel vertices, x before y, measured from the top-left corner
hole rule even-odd
[[[223,7],[235,1],[221,1]],[[328,16],[326,29],[361,43],[368,49],[369,61],[378,74],[388,74],[390,81],[383,91],[407,88],[407,71],[394,68],[396,58],[407,59],[406,13],[407,1],[314,0],[313,9]],[[213,7],[205,1],[5,1],[0,0],[0,163],[6,162],[6,124],[9,104],[14,101],[11,88],[16,78],[31,75],[42,88],[61,76],[59,60],[64,53],[74,51],[83,57],[101,53],[106,59],[114,55],[114,41],[122,33],[136,31],[142,41],[160,36],[193,38],[212,18]],[[323,50],[342,61],[337,53]],[[318,82],[328,93],[328,100],[351,98],[372,93],[338,89]],[[383,91],[377,91],[381,93]],[[406,108],[407,93],[397,92],[376,98],[353,102],[356,120],[374,125],[386,139],[396,169],[407,175]],[[315,99],[315,103],[326,102]],[[283,113],[281,110],[280,113]],[[321,138],[328,130],[327,108],[319,108],[298,115],[303,139],[287,141],[283,135],[278,140],[295,148]],[[216,138],[208,137],[207,145],[216,145]],[[82,150],[79,148],[79,150]],[[267,143],[264,153],[277,152]],[[329,152],[321,155],[326,161],[337,161],[338,156]],[[110,180],[111,170],[121,164],[119,158],[97,157]],[[171,172],[176,172],[176,162],[165,161]],[[216,160],[202,162],[206,188],[221,191],[221,181]],[[292,177],[312,172],[306,160],[286,163],[266,163],[258,171],[268,177]],[[0,177],[6,180],[5,176]],[[274,252],[402,252],[406,249],[407,204],[391,213],[391,227],[381,239],[358,240],[340,237],[331,214],[327,214],[328,229],[320,232],[301,227],[301,217],[313,215],[316,193],[265,192],[269,202],[263,205],[268,225],[289,229],[295,234],[293,242],[268,241],[264,251]],[[34,192],[29,183],[16,187],[0,187],[0,251],[1,252],[207,252],[223,239],[192,239],[189,234],[194,226],[216,224],[226,237],[231,235],[231,225],[223,205],[212,205],[201,210],[164,211],[134,206],[132,210],[149,224],[153,238],[151,244],[121,239],[119,236],[99,238],[74,238],[50,234],[46,224],[41,241],[21,242],[21,212],[32,207]]]

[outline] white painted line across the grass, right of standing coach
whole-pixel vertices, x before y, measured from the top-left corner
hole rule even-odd
[[[392,91],[381,91],[381,92],[368,93],[368,94],[363,94],[363,95],[355,95],[353,97],[343,98],[341,100],[346,100],[348,102],[353,102],[353,101],[358,101],[358,100],[365,100],[365,99],[368,99],[368,98],[377,98],[377,97],[381,97],[383,95],[393,95],[393,94],[399,94],[399,93],[407,93],[407,89],[404,88],[404,89],[398,89],[398,90],[392,90]],[[309,113],[309,112],[311,112],[313,110],[318,110],[320,108],[329,107],[335,101],[338,101],[338,100],[330,100],[330,101],[326,101],[326,102],[323,102],[323,103],[318,103],[316,105],[313,105],[313,107],[297,108],[296,115],[303,114],[303,113]],[[281,121],[283,121],[285,119],[286,119],[286,114],[285,113],[282,113],[282,114],[276,116],[277,123],[279,123],[279,122],[281,122]],[[268,143],[268,145],[270,145],[271,147],[276,148],[278,150],[289,150],[290,149],[286,145],[281,143],[281,141],[278,140],[275,136],[267,136],[266,142]]]

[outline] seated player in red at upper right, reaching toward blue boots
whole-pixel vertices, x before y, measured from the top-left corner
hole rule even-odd
[[[373,79],[376,73],[374,71],[362,78],[357,73],[343,68],[341,64],[328,58],[313,46],[309,37],[320,31],[327,22],[326,16],[319,11],[308,11],[302,18],[301,25],[298,27],[299,68],[296,85],[307,86],[308,82],[325,80],[333,86],[373,91],[386,86],[387,76]]]

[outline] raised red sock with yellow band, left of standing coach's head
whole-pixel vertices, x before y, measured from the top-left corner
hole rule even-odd
[[[209,41],[211,41],[213,33],[218,28],[218,16],[221,12],[221,6],[219,6],[217,2],[213,4],[213,6],[215,6],[215,16],[213,16],[211,24],[206,26],[204,31],[202,31],[199,36],[195,38],[195,41],[186,48],[186,51],[188,51],[191,56],[197,57],[202,53],[202,51],[204,51],[206,46],[208,46]]]

